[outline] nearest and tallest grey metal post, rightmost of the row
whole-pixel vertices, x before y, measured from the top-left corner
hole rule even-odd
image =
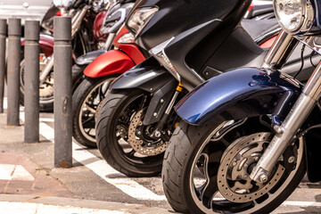
[[[72,166],[71,19],[53,19],[54,165]]]

